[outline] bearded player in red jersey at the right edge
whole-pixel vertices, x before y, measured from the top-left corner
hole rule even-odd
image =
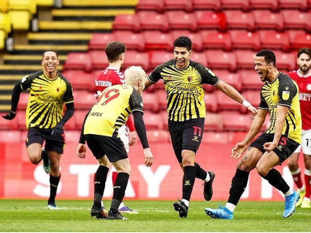
[[[311,49],[301,48],[297,53],[297,64],[299,69],[290,71],[288,75],[299,86],[299,102],[302,119],[302,140],[301,145],[288,158],[288,168],[298,187],[300,199],[296,207],[311,208]],[[304,181],[302,183],[298,157],[300,150],[304,153]]]

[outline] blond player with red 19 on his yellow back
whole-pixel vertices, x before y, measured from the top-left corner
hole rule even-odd
[[[131,113],[134,116],[135,128],[144,149],[144,163],[147,167],[153,163],[145,123],[142,119],[143,101],[141,94],[144,89],[143,79],[146,77],[146,73],[141,67],[131,66],[125,70],[124,76],[127,85],[107,87],[86,114],[77,148],[77,156],[85,158],[86,140],[88,147],[99,163],[106,163],[105,160],[109,160],[118,172],[108,216],[101,207],[102,190],[104,190],[105,183],[95,182],[95,193],[97,195],[94,196],[91,216],[96,218],[128,220],[118,211],[131,170],[128,155],[119,137],[118,129],[127,121]],[[100,175],[107,177],[108,170],[106,167]]]

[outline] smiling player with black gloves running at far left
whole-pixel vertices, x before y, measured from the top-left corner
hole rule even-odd
[[[65,147],[63,126],[74,112],[73,95],[70,82],[57,71],[59,60],[55,51],[46,50],[41,65],[43,70],[26,75],[14,86],[11,111],[2,117],[12,120],[16,116],[20,93],[30,88],[26,109],[28,156],[33,164],[42,159],[45,172],[50,173],[48,209],[56,209],[55,196],[61,175],[59,162]],[[44,140],[45,149],[41,150]]]

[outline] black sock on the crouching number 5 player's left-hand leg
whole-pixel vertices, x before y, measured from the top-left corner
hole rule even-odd
[[[249,172],[236,169],[232,178],[228,202],[237,205],[247,185]]]

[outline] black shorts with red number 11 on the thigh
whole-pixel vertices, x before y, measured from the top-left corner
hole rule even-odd
[[[182,163],[182,150],[190,150],[194,153],[200,146],[204,130],[204,118],[190,119],[186,121],[169,120],[169,134],[176,158]]]

